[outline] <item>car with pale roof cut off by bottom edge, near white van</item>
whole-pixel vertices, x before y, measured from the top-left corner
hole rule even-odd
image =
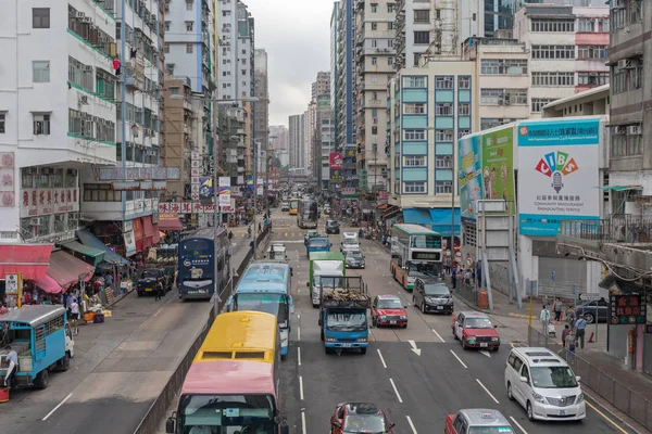
[[[444,434],[514,434],[507,419],[498,410],[471,408],[446,417]]]

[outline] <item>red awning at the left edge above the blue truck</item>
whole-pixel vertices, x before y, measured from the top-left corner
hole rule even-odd
[[[24,280],[40,279],[46,276],[51,254],[51,244],[0,245],[0,279],[12,272],[22,273]]]

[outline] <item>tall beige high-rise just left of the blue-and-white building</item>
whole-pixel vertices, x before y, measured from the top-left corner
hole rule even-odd
[[[360,190],[386,190],[387,82],[396,59],[396,3],[360,0],[355,9],[355,119]]]

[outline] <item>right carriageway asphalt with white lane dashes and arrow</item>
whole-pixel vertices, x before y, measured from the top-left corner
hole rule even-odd
[[[317,309],[309,299],[305,282],[309,263],[303,245],[304,230],[294,217],[273,216],[274,241],[283,241],[294,270],[290,354],[284,361],[283,397],[291,433],[313,434],[329,431],[329,420],[338,403],[372,401],[380,406],[397,434],[442,432],[446,416],[462,408],[492,408],[507,417],[516,432],[548,434],[563,430],[569,434],[630,433],[607,412],[588,406],[581,423],[530,422],[525,410],[507,399],[503,375],[511,345],[523,345],[525,336],[513,324],[499,326],[502,347],[498,353],[463,352],[451,332],[451,316],[423,316],[412,306],[412,296],[394,282],[389,269],[388,252],[362,240],[366,256],[365,270],[348,270],[368,284],[371,295],[397,294],[408,306],[406,329],[372,329],[366,355],[343,353],[326,355],[319,341]],[[324,222],[319,231],[324,232]],[[356,229],[352,229],[356,230]],[[330,235],[333,250],[340,235]],[[468,310],[455,301],[455,310]],[[371,321],[369,321],[371,322]],[[521,330],[526,330],[526,322]]]

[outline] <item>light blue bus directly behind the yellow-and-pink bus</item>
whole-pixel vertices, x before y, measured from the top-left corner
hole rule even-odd
[[[280,330],[280,355],[287,356],[291,314],[292,268],[280,260],[256,260],[250,264],[226,305],[229,311],[255,310],[276,316]]]

